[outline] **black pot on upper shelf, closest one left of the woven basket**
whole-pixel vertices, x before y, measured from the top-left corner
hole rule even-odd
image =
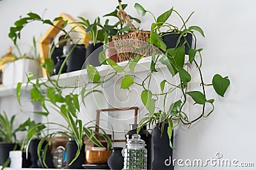
[[[103,43],[90,43],[86,48],[86,64],[100,66],[99,53],[103,51]]]

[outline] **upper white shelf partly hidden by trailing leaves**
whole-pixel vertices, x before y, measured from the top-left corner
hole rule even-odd
[[[188,56],[186,55],[185,61],[188,61]],[[119,66],[125,66],[128,61],[118,62]],[[151,57],[144,57],[141,59],[137,66],[134,69],[134,73],[140,73],[142,71],[150,71],[150,64],[151,64]],[[157,62],[156,69],[160,69],[165,67],[161,62]],[[96,67],[100,73],[100,76],[104,76],[111,70],[111,66],[109,65],[102,65]],[[63,73],[60,75],[59,85],[61,86],[74,86],[77,85],[80,76],[86,76],[87,71],[86,69],[81,69],[79,71],[72,71],[70,73]],[[57,79],[58,76],[52,76],[52,78]],[[40,78],[41,81],[47,81],[47,78]],[[28,87],[29,89],[29,87]],[[9,87],[5,87],[4,85],[0,87],[0,97],[7,97],[7,96],[15,96],[16,95],[16,85],[12,85]]]

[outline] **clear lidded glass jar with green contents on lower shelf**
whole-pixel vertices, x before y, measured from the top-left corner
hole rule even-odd
[[[140,134],[132,134],[124,149],[124,169],[147,169],[147,149]]]

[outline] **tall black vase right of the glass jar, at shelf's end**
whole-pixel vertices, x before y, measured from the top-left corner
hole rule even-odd
[[[163,135],[161,136],[161,124],[156,125],[153,130],[153,162],[152,170],[173,170],[172,148],[170,147],[167,133],[168,124],[164,124]],[[173,135],[171,139],[173,143]]]

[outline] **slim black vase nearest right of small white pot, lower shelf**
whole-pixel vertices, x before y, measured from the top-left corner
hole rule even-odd
[[[33,139],[29,143],[29,153],[30,153],[31,162],[32,162],[30,168],[38,167],[38,165],[37,165],[37,160],[38,160],[37,148],[38,148],[39,142],[40,142],[40,139]]]

